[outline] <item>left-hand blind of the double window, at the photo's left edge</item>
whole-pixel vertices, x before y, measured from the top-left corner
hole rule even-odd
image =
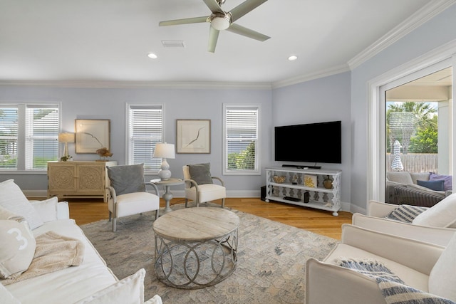
[[[0,108],[0,169],[17,169],[18,108]]]

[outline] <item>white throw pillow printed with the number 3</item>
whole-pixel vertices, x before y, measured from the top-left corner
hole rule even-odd
[[[28,269],[36,241],[28,226],[0,220],[0,278],[16,278]]]

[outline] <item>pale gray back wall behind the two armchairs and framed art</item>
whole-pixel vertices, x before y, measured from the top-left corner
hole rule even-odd
[[[256,89],[162,89],[162,88],[56,88],[43,86],[0,86],[0,102],[61,102],[61,126],[63,132],[74,132],[75,119],[110,119],[112,159],[125,164],[125,103],[165,104],[165,140],[175,142],[176,119],[211,120],[210,154],[176,154],[167,159],[174,177],[182,177],[182,165],[210,162],[212,174],[222,176],[222,117],[224,103],[261,104],[263,130],[271,130],[271,90]],[[261,150],[264,162],[271,158],[271,136],[262,133]],[[69,154],[77,160],[97,159],[96,154],[75,154],[75,145],[68,145]],[[261,167],[265,167],[261,164]],[[23,190],[46,190],[46,174],[6,174],[1,180],[15,179]],[[147,179],[156,176],[146,177]],[[266,177],[224,176],[231,196],[258,194]]]

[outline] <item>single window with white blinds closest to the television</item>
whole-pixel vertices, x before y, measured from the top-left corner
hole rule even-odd
[[[224,174],[260,174],[259,105],[224,105]]]

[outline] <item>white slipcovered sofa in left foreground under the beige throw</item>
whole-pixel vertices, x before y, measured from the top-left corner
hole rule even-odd
[[[5,190],[6,182],[0,183],[0,192]],[[57,203],[55,198],[55,201],[31,201],[31,205],[43,221],[41,226],[33,229],[33,236],[54,231],[80,240],[84,246],[83,262],[80,266],[70,266],[5,286],[2,284],[0,303],[162,303],[158,295],[144,302],[143,269],[132,269],[132,272],[137,272],[121,281],[116,278],[81,228],[69,219],[66,201]],[[18,212],[17,209],[15,211]]]

